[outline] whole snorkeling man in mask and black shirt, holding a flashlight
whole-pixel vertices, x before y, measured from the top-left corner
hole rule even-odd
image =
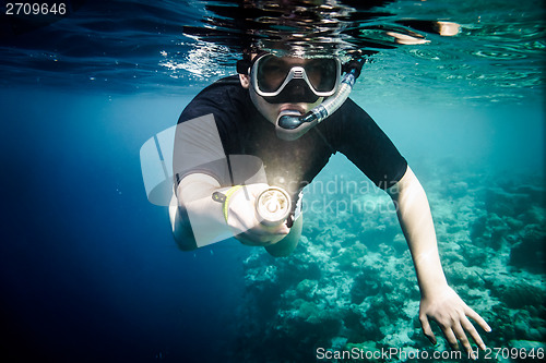
[[[431,318],[452,348],[460,341],[471,352],[470,334],[485,349],[468,318],[490,328],[447,283],[423,186],[389,137],[347,98],[346,82],[360,71],[358,58],[343,64],[332,53],[312,57],[298,47],[251,49],[237,64],[238,76],[206,87],[178,121],[169,209],[180,249],[235,237],[273,256],[290,254],[302,228],[300,192],[341,152],[397,207],[422,293],[425,335],[436,342]],[[272,186],[292,199],[270,206],[271,213],[289,208],[278,223],[263,222],[256,211],[257,199]]]

